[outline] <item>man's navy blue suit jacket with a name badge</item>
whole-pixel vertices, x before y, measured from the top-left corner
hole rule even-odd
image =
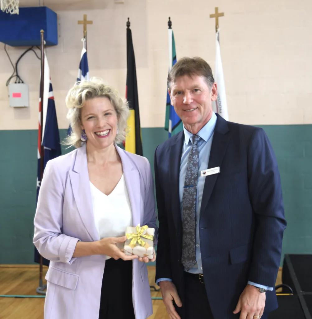
[[[286,228],[277,161],[264,130],[227,122],[217,115],[200,209],[200,243],[205,288],[215,318],[233,315],[250,280],[274,287]],[[182,220],[179,167],[183,131],[155,152],[159,219],[156,280],[171,278],[184,300],[181,263]],[[266,292],[265,312],[278,307],[276,293]],[[181,318],[184,309],[176,307]]]

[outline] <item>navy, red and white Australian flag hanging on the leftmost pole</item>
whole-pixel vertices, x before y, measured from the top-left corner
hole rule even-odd
[[[41,94],[41,91],[40,91]],[[41,123],[41,112],[43,112],[43,123]],[[42,137],[41,137],[42,125]],[[44,147],[44,154],[41,154],[41,142]],[[46,167],[47,161],[61,155],[60,134],[57,125],[54,95],[52,90],[50,69],[46,54],[44,55],[44,81],[43,81],[43,99],[39,99],[39,129],[38,129],[38,174],[37,174],[37,198],[41,183],[41,156],[43,156],[43,167]],[[39,252],[35,248],[35,262],[39,263]],[[43,264],[48,266],[49,261],[43,258]]]

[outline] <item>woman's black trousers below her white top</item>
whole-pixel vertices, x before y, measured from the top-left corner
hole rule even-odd
[[[132,302],[132,260],[107,259],[99,319],[135,319]]]

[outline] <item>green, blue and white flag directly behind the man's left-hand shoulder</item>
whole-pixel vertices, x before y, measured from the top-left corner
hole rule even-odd
[[[174,35],[171,28],[168,29],[168,34],[169,34],[168,39],[169,39],[169,72],[170,72],[171,67],[175,65],[177,62],[177,56],[176,56],[176,46],[174,43]],[[168,131],[169,137],[183,130],[183,123],[170,103],[170,95],[168,93],[168,90],[167,90],[165,130]]]

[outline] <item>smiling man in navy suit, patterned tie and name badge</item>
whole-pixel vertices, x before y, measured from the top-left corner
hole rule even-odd
[[[265,132],[214,114],[201,58],[180,59],[168,87],[184,130],[155,152],[156,282],[172,319],[267,318],[286,221]]]

